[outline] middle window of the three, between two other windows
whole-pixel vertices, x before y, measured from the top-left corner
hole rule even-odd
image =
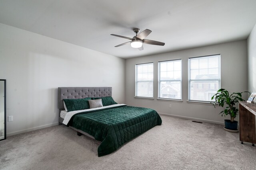
[[[181,59],[158,62],[158,98],[181,100]]]

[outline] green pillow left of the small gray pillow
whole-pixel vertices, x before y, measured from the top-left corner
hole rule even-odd
[[[89,109],[88,100],[92,98],[83,98],[83,99],[63,99],[68,111],[74,110],[84,110]]]

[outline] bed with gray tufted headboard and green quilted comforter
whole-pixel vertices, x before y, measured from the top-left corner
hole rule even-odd
[[[59,87],[59,124],[62,123],[101,144],[98,156],[114,152],[124,143],[162,124],[162,119],[154,109],[117,104],[112,99],[112,87]],[[102,102],[102,107],[64,110],[65,103],[72,101]],[[69,107],[69,106],[68,106]],[[80,106],[79,106],[80,108]]]

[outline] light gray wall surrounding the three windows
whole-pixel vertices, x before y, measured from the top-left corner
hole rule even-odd
[[[188,100],[188,58],[221,54],[221,87],[231,92],[247,90],[247,44],[246,40],[235,41],[162,53],[146,57],[126,59],[126,97],[125,102],[131,106],[156,109],[159,113],[191,117],[194,119],[222,124],[224,117],[218,115],[221,107],[212,105],[189,104]],[[158,96],[158,61],[182,59],[182,103],[156,100]],[[135,96],[135,64],[154,62],[154,100],[136,99]],[[247,97],[247,95],[246,95]],[[246,99],[245,97],[245,99]],[[172,104],[172,108],[169,105]],[[227,117],[230,119],[230,117]],[[236,118],[238,120],[238,117]]]

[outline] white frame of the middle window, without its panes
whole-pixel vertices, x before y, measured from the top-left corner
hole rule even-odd
[[[160,64],[162,62],[168,62],[168,61],[180,61],[180,80],[160,80],[161,79],[161,66]],[[161,82],[180,82],[180,99],[176,98],[161,98],[160,97],[160,87],[161,87]],[[158,99],[160,100],[178,100],[182,101],[182,59],[174,59],[174,60],[166,60],[166,61],[158,61]]]

